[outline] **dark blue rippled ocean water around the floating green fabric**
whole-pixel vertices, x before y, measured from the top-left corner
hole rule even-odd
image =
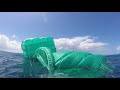
[[[120,78],[120,55],[109,55],[107,63],[111,67],[105,78]],[[9,53],[0,51],[0,78],[47,78],[48,71],[40,68],[41,73],[35,76],[26,75],[23,71],[23,55],[19,53]],[[60,74],[59,75],[63,75]],[[56,77],[58,74],[56,73]],[[64,75],[65,76],[65,75]],[[67,77],[67,76],[66,76]]]

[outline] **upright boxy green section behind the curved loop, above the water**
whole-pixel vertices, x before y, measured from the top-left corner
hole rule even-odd
[[[52,52],[56,52],[52,37],[27,39],[22,42],[24,57],[32,58],[39,47],[48,47]]]

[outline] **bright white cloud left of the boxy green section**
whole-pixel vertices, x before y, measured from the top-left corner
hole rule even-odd
[[[0,35],[0,50],[8,52],[22,52],[21,43],[15,40],[10,40],[5,35]]]

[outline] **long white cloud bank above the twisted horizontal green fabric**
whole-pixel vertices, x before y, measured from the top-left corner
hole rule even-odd
[[[107,43],[95,42],[95,37],[83,36],[74,38],[55,39],[57,50],[76,50],[76,51],[102,51],[105,50]]]

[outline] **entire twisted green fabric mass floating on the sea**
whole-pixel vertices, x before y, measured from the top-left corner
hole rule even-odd
[[[56,51],[52,37],[33,38],[24,40],[21,44],[24,65],[46,67],[50,77],[55,73],[64,73],[68,77],[97,78],[103,77],[107,71],[107,59],[102,55],[87,52]],[[29,62],[29,63],[28,63]],[[34,69],[39,71],[39,68]],[[30,72],[29,67],[25,72]]]

